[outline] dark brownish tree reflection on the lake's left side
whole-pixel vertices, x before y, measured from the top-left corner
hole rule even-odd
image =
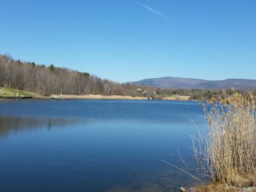
[[[53,128],[55,126],[72,126],[76,123],[84,123],[78,118],[24,118],[24,117],[0,117],[0,137],[7,136],[10,132],[17,133],[23,130],[37,130],[41,128]]]

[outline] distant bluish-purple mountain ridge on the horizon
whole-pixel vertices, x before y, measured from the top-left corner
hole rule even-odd
[[[256,80],[245,79],[198,80],[181,77],[159,77],[127,83],[138,85],[151,85],[154,88],[228,89],[230,87],[233,87],[241,90],[256,89]]]

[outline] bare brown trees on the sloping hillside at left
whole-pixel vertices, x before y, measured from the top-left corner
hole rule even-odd
[[[139,85],[103,80],[88,72],[15,60],[9,55],[0,55],[0,86],[33,91],[44,96],[51,94],[150,96],[154,94],[154,89],[151,87],[144,87],[143,91],[140,91]]]

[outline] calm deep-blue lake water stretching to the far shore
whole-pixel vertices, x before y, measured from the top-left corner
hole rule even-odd
[[[0,101],[0,191],[178,191],[196,183],[193,101]],[[188,166],[182,164],[178,151]]]

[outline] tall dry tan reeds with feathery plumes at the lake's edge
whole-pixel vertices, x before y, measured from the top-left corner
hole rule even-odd
[[[246,187],[256,184],[255,99],[232,91],[203,104],[207,126],[192,137],[192,151],[197,171],[212,182]]]

